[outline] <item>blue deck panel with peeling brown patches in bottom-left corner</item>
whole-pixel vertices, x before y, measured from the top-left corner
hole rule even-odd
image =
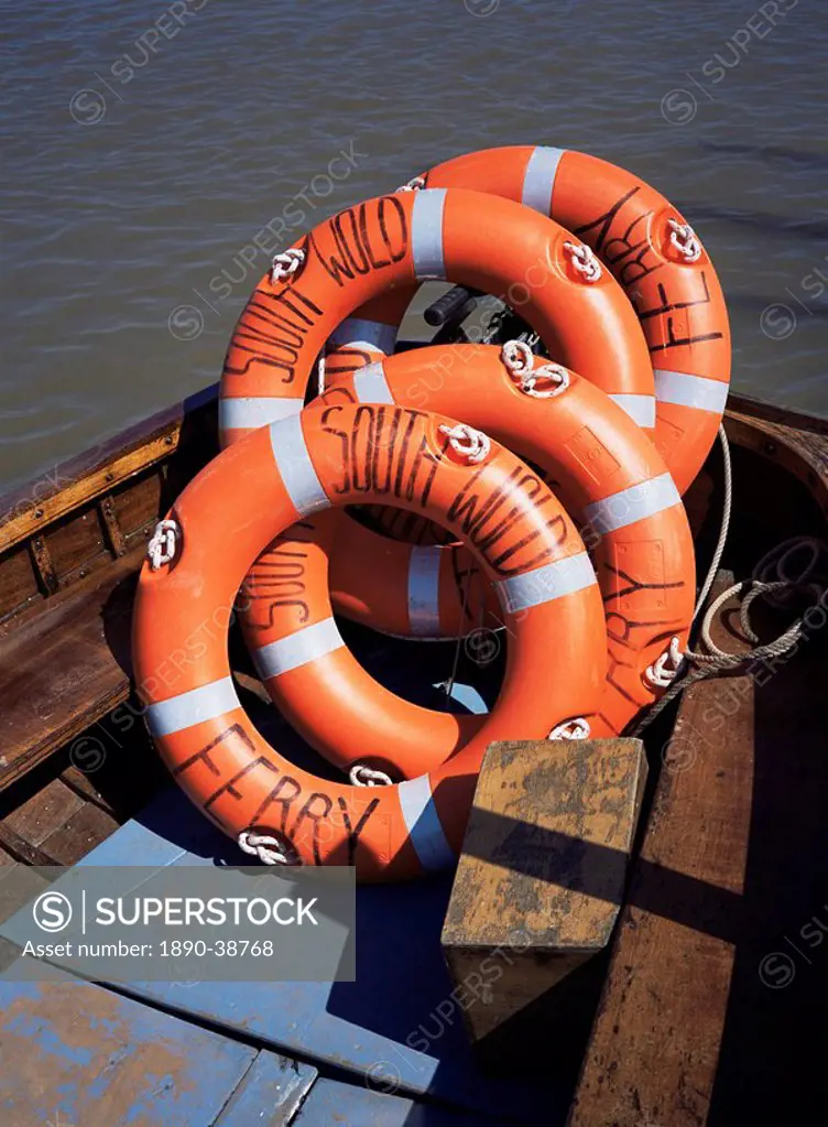
[[[0,1119],[212,1127],[257,1050],[61,976],[0,980]]]

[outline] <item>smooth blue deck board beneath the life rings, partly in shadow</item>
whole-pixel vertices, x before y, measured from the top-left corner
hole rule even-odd
[[[81,864],[239,863],[242,855],[176,789],[128,823]],[[151,859],[151,860],[150,860]],[[482,1076],[461,1028],[460,1010],[443,1021],[436,1006],[452,992],[439,934],[451,877],[357,889],[356,983],[136,983],[135,994],[208,1020],[277,1051],[327,1066],[383,1075],[411,1095],[429,1094],[482,1115],[523,1103],[527,1121],[537,1092],[515,1092]],[[421,1036],[428,1053],[409,1048]],[[544,1093],[544,1102],[549,1093]]]

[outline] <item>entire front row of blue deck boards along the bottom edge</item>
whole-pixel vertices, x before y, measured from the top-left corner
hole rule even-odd
[[[0,983],[5,1127],[473,1127],[69,975]]]

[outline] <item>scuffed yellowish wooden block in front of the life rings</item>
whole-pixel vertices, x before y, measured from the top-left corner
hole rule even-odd
[[[443,928],[473,1040],[608,943],[646,777],[638,739],[489,747]]]

